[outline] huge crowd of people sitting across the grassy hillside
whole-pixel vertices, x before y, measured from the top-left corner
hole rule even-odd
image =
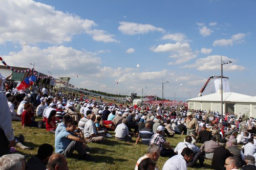
[[[148,145],[135,169],[157,169],[160,156],[169,158],[163,169],[204,168],[205,159],[210,159],[211,167],[218,170],[256,168],[253,117],[239,114],[230,118],[232,114],[226,113],[221,119],[218,112],[187,110],[187,103],[179,101],[117,105],[71,92],[63,94],[36,83],[18,92],[4,87],[8,83],[0,76],[1,169],[68,169],[66,158],[72,157],[75,150],[79,159],[93,161],[97,158],[90,156],[88,145],[110,142],[109,131],[115,132],[115,140],[135,144],[141,140]],[[39,122],[35,117],[40,118]],[[11,120],[20,121],[23,129],[45,128],[55,135],[55,145],[42,144],[37,155],[25,164],[23,155],[10,153],[15,151],[14,146],[33,148],[23,145],[22,135],[14,137]],[[173,148],[166,138],[172,141],[175,135],[186,137]],[[201,147],[198,143],[202,143]],[[238,144],[242,144],[241,149]]]

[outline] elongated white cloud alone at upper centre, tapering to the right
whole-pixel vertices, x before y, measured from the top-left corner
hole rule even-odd
[[[118,30],[121,31],[123,34],[128,35],[135,35],[135,34],[147,34],[149,32],[158,31],[164,33],[165,30],[162,28],[156,28],[149,24],[141,24],[141,23],[134,23],[134,22],[119,22],[120,26]]]

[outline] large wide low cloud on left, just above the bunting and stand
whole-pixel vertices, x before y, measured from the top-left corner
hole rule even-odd
[[[31,67],[29,63],[35,62],[35,70],[45,74],[51,70],[52,75],[58,76],[95,74],[99,71],[97,67],[101,64],[100,58],[91,52],[82,52],[62,45],[45,49],[26,45],[23,46],[22,51],[11,52],[3,56],[3,59],[10,66],[20,67]],[[63,72],[64,68],[65,72]]]

